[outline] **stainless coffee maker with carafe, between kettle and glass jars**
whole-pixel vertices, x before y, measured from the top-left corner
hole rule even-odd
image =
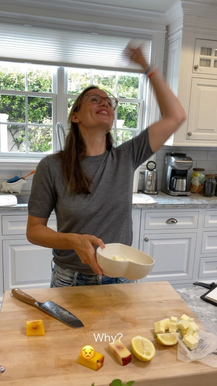
[[[190,196],[187,175],[192,164],[192,158],[184,153],[166,153],[161,190],[170,196]]]

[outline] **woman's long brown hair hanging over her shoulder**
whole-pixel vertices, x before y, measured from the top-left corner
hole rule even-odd
[[[68,117],[69,133],[66,137],[64,150],[61,154],[61,168],[62,174],[66,179],[68,191],[73,191],[77,194],[90,194],[90,185],[92,180],[84,173],[81,167],[81,159],[85,158],[86,144],[79,132],[78,124],[72,122],[72,113],[78,112],[80,103],[87,91],[98,88],[97,86],[90,86],[85,88],[82,93],[75,100]],[[113,146],[113,139],[111,133],[106,134],[106,150],[111,150]]]

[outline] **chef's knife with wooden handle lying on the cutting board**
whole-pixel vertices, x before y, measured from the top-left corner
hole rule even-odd
[[[40,308],[40,310],[45,311],[54,318],[59,319],[63,323],[66,323],[69,327],[84,327],[80,319],[51,300],[40,303],[39,301],[32,298],[32,296],[21,291],[19,288],[13,288],[11,292],[15,298],[24,301],[24,303]]]

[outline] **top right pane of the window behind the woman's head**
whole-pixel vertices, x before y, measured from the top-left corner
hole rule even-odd
[[[131,73],[119,73],[118,97],[138,98],[139,75]]]

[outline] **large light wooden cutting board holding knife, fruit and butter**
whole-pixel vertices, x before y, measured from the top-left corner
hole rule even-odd
[[[186,313],[197,317],[168,282],[110,284],[72,288],[31,289],[36,300],[52,300],[74,313],[83,328],[71,328],[34,306],[22,303],[6,291],[0,312],[1,386],[108,386],[113,379],[135,386],[215,385],[217,369],[177,360],[177,345],[164,347],[152,336],[153,323]],[[27,320],[43,319],[45,336],[27,337]],[[123,334],[121,340],[131,350],[131,339],[142,335],[156,348],[151,362],[134,356],[121,366],[108,350],[108,337],[96,342],[94,334]],[[118,335],[120,337],[121,335]],[[106,341],[105,341],[106,340]],[[90,344],[104,354],[104,366],[93,371],[77,364],[81,348]]]

